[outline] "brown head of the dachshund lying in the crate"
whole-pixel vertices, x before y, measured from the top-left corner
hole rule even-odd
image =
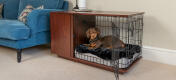
[[[98,28],[89,28],[86,32],[87,38],[90,40],[94,40],[96,37],[100,35],[100,30]]]

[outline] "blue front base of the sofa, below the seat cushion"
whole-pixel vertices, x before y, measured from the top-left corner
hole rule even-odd
[[[41,32],[35,35],[32,35],[29,39],[26,40],[8,40],[0,39],[0,45],[6,46],[14,49],[24,49],[36,45],[43,45],[50,43],[50,32]]]

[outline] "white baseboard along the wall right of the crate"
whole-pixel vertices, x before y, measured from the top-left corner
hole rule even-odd
[[[176,65],[176,50],[144,46],[143,58],[164,64]]]

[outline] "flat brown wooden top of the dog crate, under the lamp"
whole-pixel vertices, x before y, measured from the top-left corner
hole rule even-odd
[[[78,14],[78,15],[97,15],[97,16],[120,16],[129,17],[135,15],[143,15],[144,12],[129,11],[91,11],[91,12],[75,12],[75,11],[58,11],[54,13]]]

